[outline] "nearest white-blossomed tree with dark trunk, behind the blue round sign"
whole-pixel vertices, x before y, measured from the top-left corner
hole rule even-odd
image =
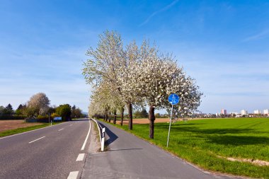
[[[193,79],[185,76],[182,68],[178,68],[171,55],[159,54],[155,46],[144,42],[140,51],[142,59],[135,63],[132,80],[128,84],[135,86],[140,96],[149,105],[149,137],[154,138],[154,110],[168,108],[168,96],[177,93],[181,97],[180,110],[190,115],[200,104],[202,93],[198,91]],[[178,110],[177,115],[179,114]]]

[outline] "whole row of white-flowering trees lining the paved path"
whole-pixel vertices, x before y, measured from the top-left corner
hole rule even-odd
[[[200,105],[202,93],[194,79],[187,76],[170,54],[159,52],[155,45],[144,40],[138,46],[135,41],[124,46],[120,35],[105,31],[95,49],[87,53],[83,74],[86,83],[93,87],[89,115],[121,111],[129,114],[129,129],[132,129],[134,105],[149,105],[149,137],[154,138],[154,110],[171,105],[168,96],[177,93],[180,104],[174,108],[177,117],[191,115]],[[115,123],[115,118],[114,121]],[[121,121],[122,125],[122,121]]]

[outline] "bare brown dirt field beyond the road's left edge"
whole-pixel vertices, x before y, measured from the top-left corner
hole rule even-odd
[[[24,120],[0,120],[0,132],[10,130],[10,129],[17,129],[21,127],[28,127],[33,125],[41,125],[42,123],[32,122],[26,123]]]

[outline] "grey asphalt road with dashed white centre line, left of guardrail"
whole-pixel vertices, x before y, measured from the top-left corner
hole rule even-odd
[[[79,178],[89,129],[79,120],[0,138],[0,178]]]

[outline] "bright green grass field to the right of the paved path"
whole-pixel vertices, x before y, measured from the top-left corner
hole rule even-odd
[[[122,129],[128,130],[127,126]],[[253,178],[269,178],[269,166],[226,159],[231,157],[269,161],[269,118],[176,122],[171,125],[168,148],[168,123],[156,123],[154,132],[154,139],[149,139],[149,125],[134,125],[132,131],[133,134],[201,168]]]

